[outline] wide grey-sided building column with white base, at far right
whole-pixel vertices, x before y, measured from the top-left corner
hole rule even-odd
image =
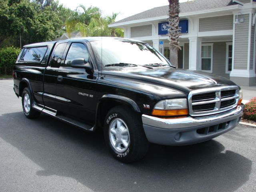
[[[233,55],[230,80],[241,86],[255,86],[255,26],[253,11],[233,12]],[[238,23],[235,23],[238,17]],[[241,20],[242,19],[242,20]]]

